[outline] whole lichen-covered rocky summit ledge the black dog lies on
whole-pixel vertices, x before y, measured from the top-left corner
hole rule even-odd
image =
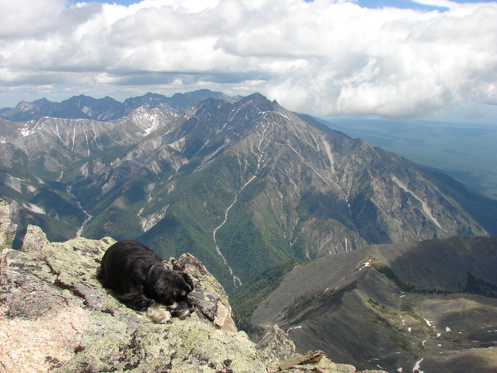
[[[5,213],[6,209],[6,213]],[[195,257],[164,265],[187,272],[198,302],[185,320],[154,324],[116,301],[96,280],[115,240],[82,237],[50,243],[30,225],[20,251],[0,200],[0,372],[60,373],[353,373],[322,351],[294,355],[278,326],[254,346],[233,322],[221,284]]]

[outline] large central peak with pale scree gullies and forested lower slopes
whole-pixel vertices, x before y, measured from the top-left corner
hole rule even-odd
[[[170,128],[65,174],[95,216],[87,237],[132,232],[166,257],[186,246],[238,284],[294,256],[487,234],[432,174],[260,94],[199,102]]]

